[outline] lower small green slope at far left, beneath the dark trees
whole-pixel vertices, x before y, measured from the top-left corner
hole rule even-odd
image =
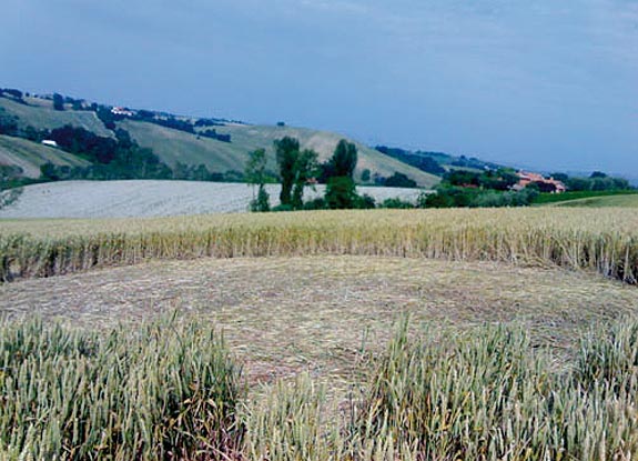
[[[28,178],[40,176],[40,166],[51,162],[60,166],[85,167],[89,164],[75,156],[26,139],[0,136],[0,164],[22,168]]]

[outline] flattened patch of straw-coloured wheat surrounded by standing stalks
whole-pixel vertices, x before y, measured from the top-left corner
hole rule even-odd
[[[597,322],[638,312],[636,289],[585,272],[411,258],[152,261],[0,287],[0,313],[105,330],[179,311],[210,319],[252,383],[307,370],[333,392],[356,381],[392,324],[520,324],[557,365]]]

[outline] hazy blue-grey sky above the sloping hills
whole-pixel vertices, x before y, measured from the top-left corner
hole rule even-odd
[[[2,0],[0,87],[638,178],[638,0]]]

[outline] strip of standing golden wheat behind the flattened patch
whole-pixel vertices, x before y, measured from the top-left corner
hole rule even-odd
[[[146,259],[374,254],[553,263],[636,283],[638,211],[317,211],[0,222],[0,278]]]

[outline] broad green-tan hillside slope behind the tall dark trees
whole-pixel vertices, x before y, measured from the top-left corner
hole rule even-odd
[[[311,148],[318,152],[320,159],[326,160],[342,139],[342,136],[332,132],[316,131],[291,127],[261,127],[261,126],[232,126],[215,127],[220,133],[230,133],[231,143],[207,138],[198,139],[195,136],[159,127],[151,123],[124,121],[121,126],[129,130],[133,138],[143,147],[152,148],[155,153],[170,164],[204,163],[211,170],[223,172],[225,170],[242,171],[245,166],[247,152],[265,148],[270,157],[270,168],[275,169],[273,141],[285,136],[298,138],[303,148]],[[419,186],[432,187],[438,178],[412,168],[395,159],[382,154],[366,146],[357,143],[359,160],[357,177],[364,169],[372,173],[392,176],[395,171],[403,172],[413,178]]]

